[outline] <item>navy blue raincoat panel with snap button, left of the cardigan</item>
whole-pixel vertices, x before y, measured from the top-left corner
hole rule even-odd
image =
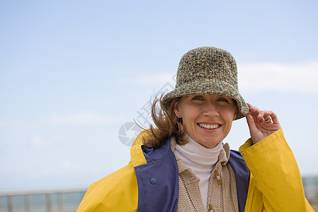
[[[138,211],[177,211],[179,178],[170,139],[160,148],[143,147],[143,152],[147,163],[135,167],[139,189]]]

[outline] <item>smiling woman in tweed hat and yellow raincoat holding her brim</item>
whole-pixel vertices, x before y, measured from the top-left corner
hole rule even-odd
[[[78,211],[313,211],[276,114],[245,103],[230,53],[184,54],[152,114],[130,163],[92,184]],[[222,141],[242,117],[251,138],[239,153]]]

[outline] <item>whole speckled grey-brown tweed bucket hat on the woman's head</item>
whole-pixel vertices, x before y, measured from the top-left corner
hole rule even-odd
[[[169,107],[174,98],[186,95],[226,95],[237,102],[236,119],[249,113],[249,107],[238,91],[237,65],[234,57],[216,47],[192,49],[181,58],[175,90],[163,97]]]

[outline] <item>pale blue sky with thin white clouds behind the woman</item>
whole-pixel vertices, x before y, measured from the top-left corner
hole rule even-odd
[[[119,128],[214,46],[318,175],[317,1],[1,1],[0,191],[88,187],[129,162]],[[245,120],[226,139],[248,139]]]

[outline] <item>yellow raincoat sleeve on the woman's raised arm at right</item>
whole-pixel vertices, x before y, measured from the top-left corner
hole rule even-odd
[[[305,198],[300,171],[282,129],[254,145],[249,139],[240,153],[252,175],[247,201],[254,201],[254,206],[258,202],[261,211],[314,211]]]

